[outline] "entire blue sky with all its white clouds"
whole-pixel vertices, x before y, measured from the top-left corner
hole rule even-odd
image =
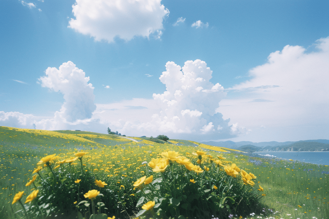
[[[329,139],[327,0],[2,0],[0,126]]]

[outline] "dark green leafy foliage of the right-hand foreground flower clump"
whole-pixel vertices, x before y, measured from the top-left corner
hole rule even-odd
[[[155,179],[151,184],[138,186],[136,194],[140,198],[136,207],[149,201],[155,205],[152,209],[140,210],[136,216],[201,219],[261,212],[263,206],[257,189],[255,192],[253,187],[244,185],[241,177],[228,176],[217,164],[209,165],[208,171],[196,173],[170,161],[163,173],[153,174]]]

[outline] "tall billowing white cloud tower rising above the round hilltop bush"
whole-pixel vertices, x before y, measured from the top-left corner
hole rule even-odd
[[[229,120],[215,112],[226,93],[219,83],[209,81],[212,73],[206,62],[199,59],[186,61],[182,68],[174,62],[166,63],[166,71],[160,77],[166,91],[153,94],[161,106],[161,111],[152,116],[159,131],[217,138],[235,134]]]

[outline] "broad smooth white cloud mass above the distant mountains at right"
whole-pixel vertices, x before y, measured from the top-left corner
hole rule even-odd
[[[281,135],[280,141],[291,133],[300,137],[295,140],[328,138],[318,133],[329,131],[329,37],[314,46],[313,52],[287,45],[271,53],[267,63],[249,71],[251,79],[227,89],[220,112],[253,130],[266,126],[266,133],[258,132],[261,141],[270,133]]]

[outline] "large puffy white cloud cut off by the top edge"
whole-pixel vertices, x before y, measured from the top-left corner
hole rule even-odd
[[[72,8],[75,19],[71,18],[68,27],[108,42],[116,36],[131,40],[152,33],[160,38],[162,21],[169,14],[161,0],[76,0]]]

